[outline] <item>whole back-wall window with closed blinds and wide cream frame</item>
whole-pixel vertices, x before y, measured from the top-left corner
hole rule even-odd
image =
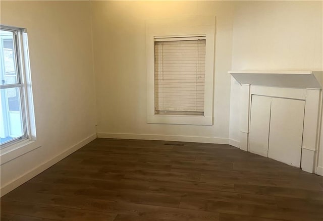
[[[213,124],[214,37],[214,17],[147,22],[147,123]]]

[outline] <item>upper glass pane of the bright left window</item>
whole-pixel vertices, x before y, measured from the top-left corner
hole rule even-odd
[[[13,31],[0,31],[1,84],[15,84],[18,82],[14,37],[15,32]]]

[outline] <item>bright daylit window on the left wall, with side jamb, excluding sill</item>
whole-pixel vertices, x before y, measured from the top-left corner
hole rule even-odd
[[[1,149],[30,139],[28,111],[32,107],[26,30],[1,25],[0,28],[0,146]],[[30,77],[30,76],[29,76]]]

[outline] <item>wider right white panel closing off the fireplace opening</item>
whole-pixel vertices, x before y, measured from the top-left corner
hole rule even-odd
[[[268,157],[300,167],[304,100],[272,98]]]

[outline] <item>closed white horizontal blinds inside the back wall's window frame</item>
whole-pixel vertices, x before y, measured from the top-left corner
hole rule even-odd
[[[155,114],[204,115],[205,38],[155,39]]]

